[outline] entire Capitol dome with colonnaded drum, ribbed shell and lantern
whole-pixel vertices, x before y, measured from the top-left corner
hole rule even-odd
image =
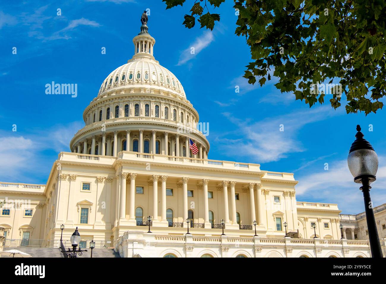
[[[117,156],[120,151],[207,159],[209,143],[198,131],[198,112],[181,82],[154,58],[146,24],[133,38],[134,55],[103,80],[83,112],[85,127],[71,151]],[[197,153],[190,150],[190,140]]]

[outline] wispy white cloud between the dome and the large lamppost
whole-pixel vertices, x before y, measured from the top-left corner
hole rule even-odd
[[[222,138],[219,143],[224,144],[223,148],[229,155],[247,156],[259,163],[278,161],[286,158],[289,153],[305,150],[296,139],[299,129],[336,114],[330,106],[322,106],[251,123],[233,117],[230,113],[223,113],[238,129],[232,133],[234,139]],[[284,131],[280,131],[281,124],[284,125]]]

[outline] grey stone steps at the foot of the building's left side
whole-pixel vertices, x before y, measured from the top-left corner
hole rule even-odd
[[[86,249],[88,251],[83,252],[83,255],[78,257],[91,257],[91,249]],[[19,250],[20,252],[28,253],[31,257],[64,257],[60,248],[4,247],[3,250]],[[120,257],[120,255],[113,248],[94,248],[93,257]]]

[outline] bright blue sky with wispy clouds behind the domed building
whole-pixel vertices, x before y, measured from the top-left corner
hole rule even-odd
[[[179,78],[200,121],[209,122],[210,159],[293,172],[299,201],[338,203],[343,213],[359,213],[362,193],[346,158],[361,124],[379,156],[372,200],[375,206],[386,202],[384,111],[366,117],[329,104],[310,109],[276,90],[274,78],[263,87],[249,85],[242,75],[250,52],[245,38],[234,34],[232,1],[215,9],[221,20],[212,32],[182,25],[191,5],[165,7],[161,0],[0,4],[1,181],[46,183],[58,153],[69,151],[69,140],[83,127],[83,110],[102,81],[133,55],[139,19],[150,9],[154,56]],[[46,95],[52,81],[78,84],[78,96]]]

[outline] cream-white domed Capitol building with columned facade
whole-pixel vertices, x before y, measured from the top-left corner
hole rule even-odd
[[[46,184],[0,183],[5,247],[58,243],[64,224],[66,247],[78,227],[81,247],[121,257],[370,256],[368,240],[341,239],[337,204],[296,201],[293,173],[208,159],[198,112],[155,43],[143,22]]]

